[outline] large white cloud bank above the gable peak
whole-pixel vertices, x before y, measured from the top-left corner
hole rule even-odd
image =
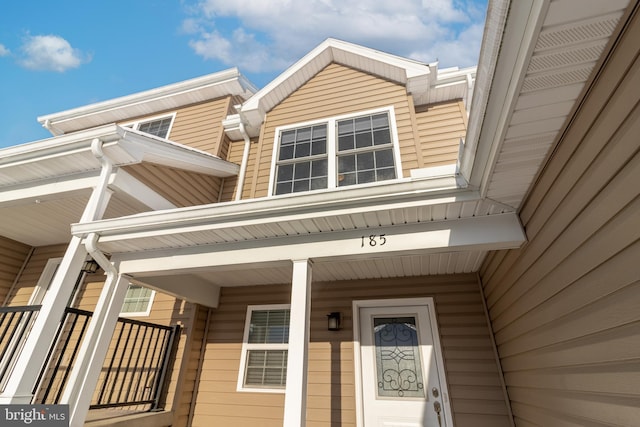
[[[202,0],[183,31],[205,59],[282,70],[327,37],[441,66],[477,61],[486,0]]]

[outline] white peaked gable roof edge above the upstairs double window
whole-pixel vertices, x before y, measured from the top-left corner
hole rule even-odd
[[[257,136],[264,116],[331,63],[345,65],[405,85],[416,105],[470,98],[475,67],[438,70],[425,64],[342,40],[329,38],[239,107],[249,135]],[[469,99],[470,101],[470,99]],[[229,120],[233,121],[230,116]]]

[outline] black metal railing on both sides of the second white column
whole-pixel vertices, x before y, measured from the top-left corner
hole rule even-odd
[[[66,309],[34,390],[36,403],[59,403],[92,314]],[[179,333],[179,326],[119,318],[90,408],[157,409]]]

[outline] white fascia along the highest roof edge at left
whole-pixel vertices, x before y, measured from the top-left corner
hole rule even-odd
[[[251,95],[257,91],[257,88],[249,82],[237,68],[219,71],[217,73],[208,74],[206,76],[196,77],[184,80],[178,83],[161,86],[159,88],[134,93],[107,101],[97,102],[86,106],[74,108],[71,110],[61,111],[59,113],[48,114],[38,117],[41,124],[49,123],[53,127],[57,123],[67,122],[81,117],[103,114],[119,109],[126,109],[144,103],[156,100],[175,97],[187,92],[202,90],[203,88],[230,84],[236,82],[237,87],[230,91],[230,95]]]

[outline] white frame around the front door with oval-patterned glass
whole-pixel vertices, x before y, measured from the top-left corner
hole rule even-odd
[[[442,356],[442,346],[440,345],[440,332],[436,319],[435,302],[433,297],[421,298],[395,298],[395,299],[372,299],[353,301],[353,363],[355,374],[356,392],[356,426],[364,427],[364,402],[362,390],[362,363],[360,352],[360,309],[369,307],[407,307],[424,305],[429,309],[429,323],[431,324],[431,335],[433,337],[433,347],[437,364],[438,376],[440,378],[440,391],[442,393],[442,409],[447,425],[453,426],[453,414],[451,411],[451,400],[449,398],[449,388],[444,369],[444,358]]]

